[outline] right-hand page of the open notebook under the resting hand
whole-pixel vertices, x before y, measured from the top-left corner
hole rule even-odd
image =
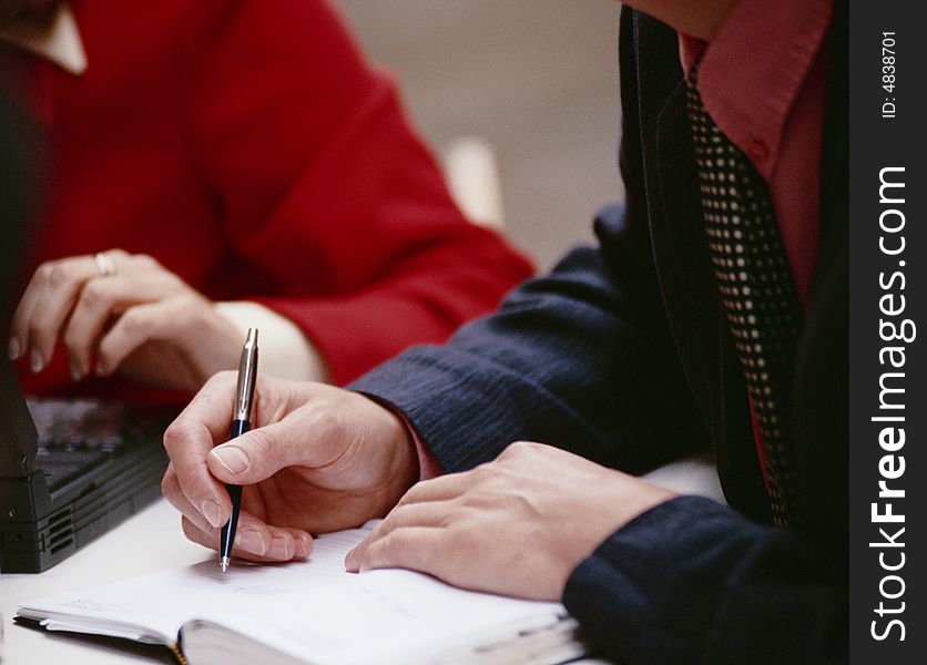
[[[203,617],[296,657],[348,665],[462,653],[557,625],[564,614],[556,603],[465,592],[397,570],[314,577],[302,591],[284,607],[255,603],[234,615]]]

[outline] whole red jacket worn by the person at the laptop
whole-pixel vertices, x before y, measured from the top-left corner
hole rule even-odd
[[[338,383],[445,339],[529,275],[462,217],[395,84],[324,2],[72,6],[83,74],[0,45],[4,84],[50,140],[30,275],[151,254],[213,300],[296,323]],[[27,391],[73,390],[63,356],[21,367]]]

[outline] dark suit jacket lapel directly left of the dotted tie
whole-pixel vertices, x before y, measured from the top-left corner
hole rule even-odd
[[[641,100],[641,141],[646,198],[660,287],[683,369],[712,441],[729,501],[768,521],[770,505],[753,443],[746,387],[717,296],[702,218],[685,82],[675,32],[641,17],[634,31],[646,82]],[[664,54],[654,76],[654,55]],[[655,88],[654,81],[665,82]],[[650,157],[650,158],[648,158]]]

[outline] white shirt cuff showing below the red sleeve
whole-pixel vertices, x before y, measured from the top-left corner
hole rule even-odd
[[[242,332],[242,339],[248,328],[261,331],[262,374],[293,381],[332,382],[322,354],[288,318],[246,300],[214,303],[213,308]]]

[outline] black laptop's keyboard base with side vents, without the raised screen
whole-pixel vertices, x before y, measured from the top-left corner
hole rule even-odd
[[[39,573],[161,494],[164,405],[26,400],[0,361],[0,571]]]

